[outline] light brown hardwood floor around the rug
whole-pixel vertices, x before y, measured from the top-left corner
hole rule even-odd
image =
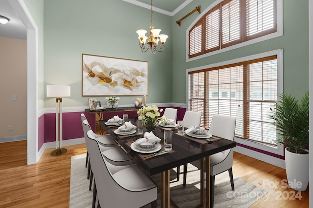
[[[45,150],[37,164],[27,166],[26,141],[0,143],[0,208],[68,208],[70,158],[86,153],[86,145],[65,148],[58,157]],[[251,208],[309,207],[309,188],[297,195],[285,188],[284,169],[234,152],[233,173],[268,191]]]

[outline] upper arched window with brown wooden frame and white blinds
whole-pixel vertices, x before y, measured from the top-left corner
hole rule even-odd
[[[276,0],[224,0],[189,30],[189,58],[277,31]]]

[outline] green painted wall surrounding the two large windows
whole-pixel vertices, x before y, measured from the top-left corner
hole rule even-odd
[[[211,57],[186,62],[186,30],[199,16],[198,12],[181,21],[196,6],[204,11],[214,0],[193,0],[172,19],[173,33],[173,102],[186,102],[186,69],[200,67],[276,49],[284,50],[284,93],[297,98],[309,89],[309,11],[308,0],[283,1],[284,35]],[[202,14],[202,13],[201,13]],[[182,44],[183,43],[183,44]]]

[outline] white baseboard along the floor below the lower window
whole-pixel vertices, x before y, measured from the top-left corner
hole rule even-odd
[[[263,162],[269,163],[271,165],[286,169],[285,160],[279,159],[277,157],[273,157],[267,154],[263,154],[261,152],[249,150],[240,146],[235,147],[234,151],[239,152],[241,154],[245,154],[249,157],[253,157],[255,159],[261,160]]]

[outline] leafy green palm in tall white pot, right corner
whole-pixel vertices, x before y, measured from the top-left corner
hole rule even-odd
[[[279,95],[280,101],[270,115],[280,135],[277,144],[285,147],[288,184],[292,189],[304,191],[309,183],[309,92],[299,103],[291,95]]]

